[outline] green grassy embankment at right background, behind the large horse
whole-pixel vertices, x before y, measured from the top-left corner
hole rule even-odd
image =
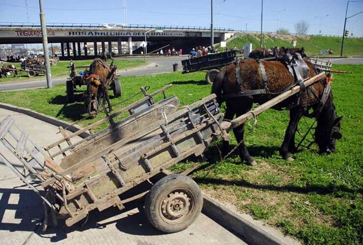
[[[281,37],[281,38],[279,38]],[[341,37],[322,37],[322,36],[309,36],[292,38],[291,36],[280,35],[276,37],[270,34],[263,35],[263,45],[266,48],[271,47],[292,47],[292,40],[297,41],[297,47],[304,47],[308,56],[323,56],[319,51],[325,49],[332,49],[334,55],[340,55]],[[227,48],[233,47],[242,48],[246,43],[252,43],[253,49],[259,47],[259,35],[241,35],[227,43]],[[345,38],[344,39],[344,55],[363,55],[363,38]]]

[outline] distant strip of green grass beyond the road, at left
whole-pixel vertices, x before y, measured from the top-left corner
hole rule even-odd
[[[76,64],[76,67],[78,66],[89,66],[91,64],[92,60],[76,60],[74,63]],[[110,63],[109,60],[107,63]],[[59,61],[55,66],[51,67],[51,73],[52,77],[68,77],[70,73],[70,69],[67,68],[69,66],[69,61]],[[20,69],[20,63],[7,63],[5,64],[14,64],[17,69]],[[147,62],[143,60],[120,60],[115,59],[115,64],[118,69],[125,69],[125,68],[132,68],[132,67],[139,67],[146,65]],[[85,68],[77,68],[77,72],[83,71]],[[16,77],[13,77],[12,75],[8,76],[7,78],[2,77],[0,78],[0,82],[13,82],[13,81],[24,81],[29,79],[36,79],[40,77],[45,77],[45,74],[41,74],[36,77],[28,77],[26,72],[19,72]]]

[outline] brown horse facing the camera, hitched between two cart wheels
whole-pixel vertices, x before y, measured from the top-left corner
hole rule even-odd
[[[107,80],[110,76],[109,66],[100,58],[93,60],[89,67],[89,72],[86,77],[87,91],[85,92],[84,104],[91,118],[96,117],[99,111],[99,105],[107,101],[109,111],[112,111],[110,99],[108,97]]]

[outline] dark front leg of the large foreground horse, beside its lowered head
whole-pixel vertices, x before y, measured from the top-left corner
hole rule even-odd
[[[288,123],[283,144],[280,148],[281,155],[288,161],[293,161],[294,159],[290,156],[290,152],[295,148],[295,132],[297,129],[297,124],[299,123],[301,117],[304,114],[304,109],[302,107],[295,107],[290,110],[290,121]]]

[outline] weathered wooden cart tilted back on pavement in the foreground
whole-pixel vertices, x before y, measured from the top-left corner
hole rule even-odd
[[[75,133],[60,128],[64,138],[44,149],[7,117],[0,124],[0,139],[23,163],[24,172],[3,161],[38,194],[40,184],[47,196],[41,197],[68,226],[93,209],[117,206],[122,210],[126,203],[149,193],[145,197],[148,220],[164,232],[183,230],[202,209],[201,190],[185,175],[161,179],[157,175],[191,155],[201,156],[209,143],[222,135],[219,123],[223,114],[215,95],[179,107],[178,98],[165,96],[169,87]],[[164,98],[155,102],[161,93]],[[123,118],[125,113],[129,117]],[[103,123],[110,125],[78,139]],[[141,183],[149,188],[135,191]],[[132,196],[123,197],[130,189]]]

